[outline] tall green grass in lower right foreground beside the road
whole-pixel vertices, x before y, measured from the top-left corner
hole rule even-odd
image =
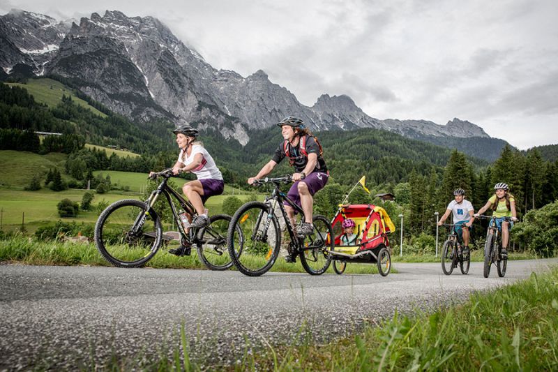
[[[431,315],[395,315],[354,338],[253,359],[236,370],[557,371],[558,268]]]

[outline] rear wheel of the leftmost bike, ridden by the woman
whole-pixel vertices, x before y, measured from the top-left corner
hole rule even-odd
[[[216,214],[209,218],[209,225],[199,232],[197,256],[210,270],[226,270],[232,266],[227,250],[230,221],[231,216]]]

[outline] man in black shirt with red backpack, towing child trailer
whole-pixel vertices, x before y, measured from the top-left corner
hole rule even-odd
[[[308,131],[304,121],[296,117],[285,117],[277,126],[281,128],[283,141],[271,158],[271,161],[264,165],[255,177],[248,179],[248,184],[253,184],[255,179],[260,179],[269,174],[284,158],[289,158],[289,163],[294,167],[292,174],[294,184],[291,186],[287,196],[304,211],[305,221],[296,232],[299,235],[311,235],[312,226],[312,196],[326,186],[329,179],[329,171],[322,157],[322,146],[316,138]],[[296,211],[287,202],[285,210],[289,216],[289,221],[294,227]],[[287,262],[293,262],[292,257],[286,256]]]

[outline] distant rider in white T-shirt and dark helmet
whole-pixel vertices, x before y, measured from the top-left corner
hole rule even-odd
[[[465,199],[465,190],[457,188],[453,191],[453,198],[446,208],[446,213],[438,221],[438,225],[442,225],[453,213],[453,223],[455,224],[455,232],[463,241],[463,259],[469,258],[469,237],[471,236],[472,224],[474,221],[474,208],[469,200]]]

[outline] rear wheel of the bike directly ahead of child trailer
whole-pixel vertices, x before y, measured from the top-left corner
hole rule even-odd
[[[334,241],[331,239],[333,228],[324,216],[314,216],[312,223],[312,235],[303,241],[301,263],[308,274],[322,275],[331,264],[329,251],[333,251],[334,248]]]

